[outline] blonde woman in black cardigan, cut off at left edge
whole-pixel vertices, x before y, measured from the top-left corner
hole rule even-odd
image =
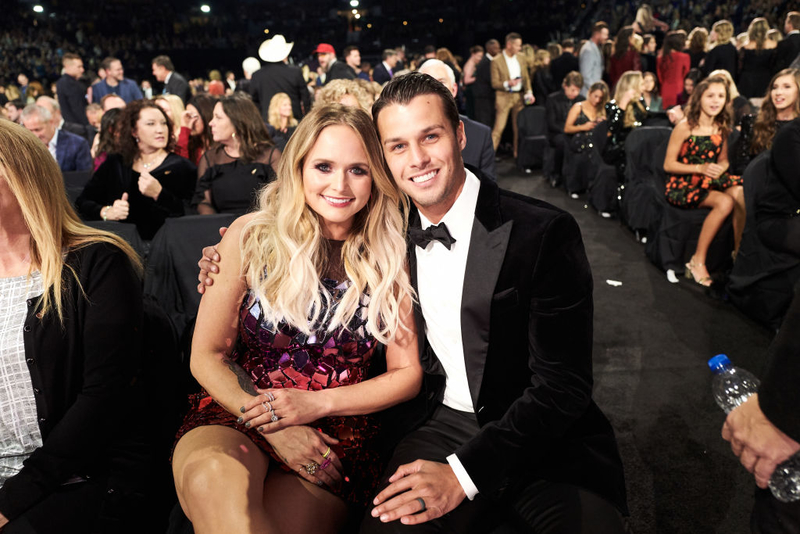
[[[148,529],[128,504],[147,469],[132,385],[141,271],[127,243],[81,222],[47,146],[0,120],[0,405],[13,422],[0,529],[47,532],[58,518],[61,532],[93,532],[101,510],[107,524]]]

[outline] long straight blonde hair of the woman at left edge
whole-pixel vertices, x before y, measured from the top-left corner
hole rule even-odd
[[[42,314],[55,310],[64,321],[65,268],[77,280],[77,273],[64,263],[64,252],[92,243],[110,243],[122,249],[141,274],[136,252],[120,237],[83,224],[72,209],[64,189],[58,163],[47,147],[31,132],[10,121],[0,120],[0,180],[5,179],[19,203],[25,225],[31,233],[31,270],[42,275]]]

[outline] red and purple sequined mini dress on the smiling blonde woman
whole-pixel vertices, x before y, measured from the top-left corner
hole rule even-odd
[[[331,241],[331,257],[341,256],[341,242]],[[343,273],[343,269],[334,271]],[[326,273],[327,274],[327,273]],[[343,274],[337,278],[346,278]],[[328,331],[330,318],[350,281],[338,282],[323,278],[331,295],[328,319],[311,335],[306,335],[284,321],[277,325],[265,316],[261,302],[249,290],[239,309],[239,331],[231,360],[239,364],[253,379],[257,388],[297,388],[319,391],[357,384],[367,378],[367,371],[377,341],[367,329],[367,295],[361,296],[358,310],[347,327]],[[229,372],[221,368],[220,372]],[[223,425],[247,436],[269,454],[276,465],[289,469],[264,437],[255,428],[246,429],[236,417],[217,404],[205,391],[189,398],[190,409],[176,442],[183,434],[202,425]],[[365,506],[375,497],[374,489],[383,465],[375,441],[377,419],[369,415],[325,417],[308,426],[339,440],[331,449],[341,459],[344,483],[340,488],[326,489],[346,502]],[[296,474],[296,473],[295,473]]]

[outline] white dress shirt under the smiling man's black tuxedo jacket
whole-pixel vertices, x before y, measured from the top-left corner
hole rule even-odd
[[[462,412],[473,413],[469,391],[464,342],[461,337],[461,296],[464,291],[464,274],[467,254],[478,204],[480,180],[465,169],[466,181],[453,206],[442,217],[450,235],[456,240],[450,250],[439,241],[431,241],[423,248],[414,247],[417,257],[417,289],[422,315],[425,318],[425,335],[431,348],[444,367],[446,382],[443,404]],[[422,229],[431,222],[420,213]],[[478,488],[455,454],[447,462],[472,500]]]

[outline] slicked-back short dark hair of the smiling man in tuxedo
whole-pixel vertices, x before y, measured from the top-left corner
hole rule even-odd
[[[372,120],[375,127],[378,127],[378,115],[383,108],[392,104],[405,106],[419,95],[437,95],[442,101],[442,111],[447,118],[453,132],[458,131],[458,123],[461,118],[458,116],[458,106],[450,90],[439,80],[422,74],[420,72],[409,72],[402,76],[396,76],[381,91],[380,97],[372,106]],[[380,130],[378,131],[380,136]]]

